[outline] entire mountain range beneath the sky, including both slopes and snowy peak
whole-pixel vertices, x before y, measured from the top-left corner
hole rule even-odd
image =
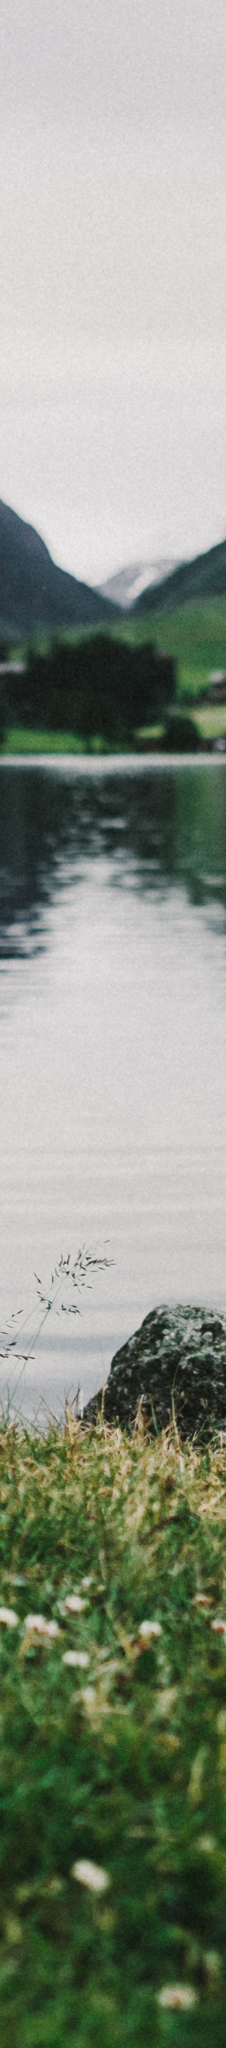
[[[39,629],[107,629],[119,616],[146,618],[220,596],[226,596],[226,539],[189,561],[140,559],[92,588],[60,569],[37,528],[0,500],[0,633],[8,639]]]

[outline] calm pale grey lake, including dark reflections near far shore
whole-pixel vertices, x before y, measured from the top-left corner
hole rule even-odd
[[[80,1239],[113,1260],[43,1331],[29,1415],[154,1303],[226,1307],[224,760],[0,762],[0,1227],[2,1327]]]

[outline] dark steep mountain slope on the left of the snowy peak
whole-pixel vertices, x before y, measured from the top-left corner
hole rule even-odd
[[[115,606],[58,569],[35,526],[0,500],[0,633],[31,633],[39,625],[99,627],[111,614]]]

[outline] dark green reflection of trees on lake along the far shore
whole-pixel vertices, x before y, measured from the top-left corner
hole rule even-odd
[[[140,893],[183,885],[193,903],[226,903],[226,772],[131,768],[80,774],[0,768],[0,950],[35,950],[62,879],[90,860]]]

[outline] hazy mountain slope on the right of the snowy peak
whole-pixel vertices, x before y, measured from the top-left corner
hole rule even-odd
[[[148,584],[136,598],[136,612],[175,610],[181,604],[201,602],[201,598],[226,596],[226,541],[210,547],[208,555],[181,561],[179,569],[158,584]]]

